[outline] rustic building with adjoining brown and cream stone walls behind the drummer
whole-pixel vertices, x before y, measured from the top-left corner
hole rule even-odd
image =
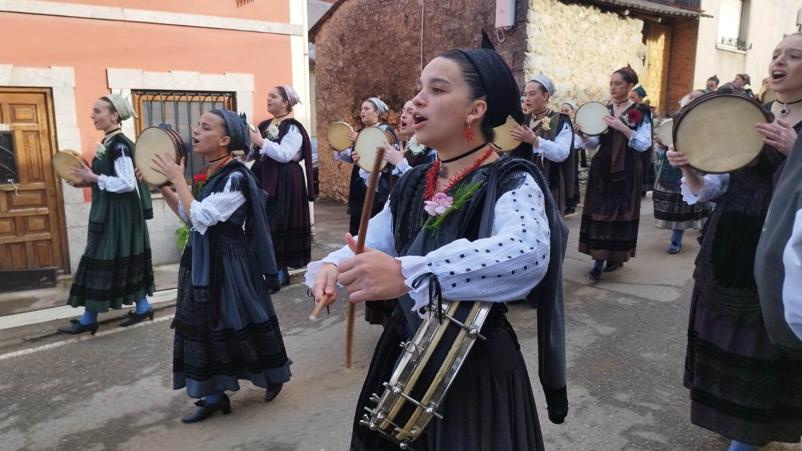
[[[701,0],[338,0],[310,29],[321,196],[343,200],[350,167],[326,156],[326,130],[358,126],[363,100],[379,95],[395,112],[415,93],[425,63],[443,51],[480,46],[488,30],[523,88],[543,71],[565,100],[606,100],[610,74],[629,63],[659,114],[693,87]],[[515,10],[496,28],[496,9]],[[395,121],[391,116],[391,125]]]

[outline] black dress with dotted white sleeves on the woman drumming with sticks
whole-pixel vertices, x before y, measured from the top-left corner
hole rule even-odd
[[[399,256],[407,278],[436,278],[448,299],[523,299],[540,282],[536,291],[543,290],[538,307],[541,383],[549,417],[562,422],[567,397],[561,265],[567,228],[548,191],[544,194],[545,180],[525,160],[508,158],[480,167],[450,191],[484,181],[472,200],[431,235],[422,228],[428,217],[423,209],[427,169],[428,165],[419,166],[400,179],[388,208],[371,219],[367,246]],[[488,201],[493,204],[485,205]],[[348,254],[346,248],[322,262],[337,262]],[[308,284],[314,282],[322,262],[310,263]],[[371,394],[383,392],[382,383],[390,380],[401,352],[399,343],[418,327],[415,312],[428,299],[427,283],[404,295],[379,339],[354,414],[352,451],[398,449],[358,421],[363,408],[374,405]],[[474,343],[438,408],[444,420],[432,421],[411,449],[544,449],[529,374],[506,311],[504,303],[494,304],[481,329],[488,339]]]

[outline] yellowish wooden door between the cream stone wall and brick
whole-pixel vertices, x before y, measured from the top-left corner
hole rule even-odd
[[[671,27],[651,24],[646,36],[646,83],[642,83],[651,106],[658,114],[666,114],[666,83],[670,55]]]

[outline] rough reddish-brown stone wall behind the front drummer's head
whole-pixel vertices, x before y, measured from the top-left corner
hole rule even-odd
[[[397,128],[398,112],[415,95],[422,67],[421,44],[425,64],[443,51],[479,47],[484,27],[519,82],[523,81],[526,2],[518,2],[518,25],[504,34],[503,43],[493,30],[493,0],[427,1],[424,7],[423,37],[420,0],[343,2],[314,36],[322,198],[346,199],[351,171],[351,165],[330,157],[329,125],[344,120],[357,126],[362,102],[379,95],[393,110],[388,120]]]

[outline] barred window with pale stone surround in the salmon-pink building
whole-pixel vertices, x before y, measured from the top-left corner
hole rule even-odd
[[[219,108],[237,111],[237,97],[233,92],[132,91],[132,95],[140,116],[136,122],[137,136],[145,128],[168,124],[184,142],[192,143],[192,130],[203,113]],[[187,180],[192,180],[203,166],[203,156],[195,153],[187,156],[184,173]]]

